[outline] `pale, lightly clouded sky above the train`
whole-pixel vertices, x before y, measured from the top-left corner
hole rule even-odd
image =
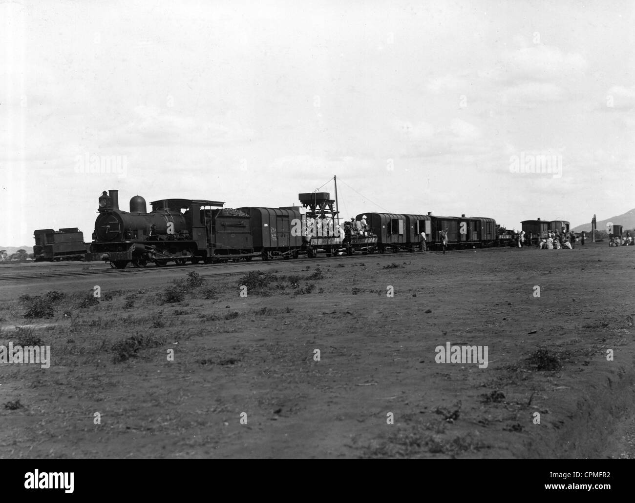
[[[89,241],[111,188],[290,206],[333,174],[343,218],[622,214],[634,26],[606,0],[2,3],[0,245]],[[535,155],[561,176],[511,172]]]

